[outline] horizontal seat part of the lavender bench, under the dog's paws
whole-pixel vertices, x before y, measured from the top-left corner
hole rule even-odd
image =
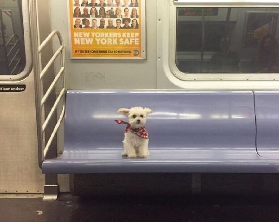
[[[64,152],[57,159],[46,160],[44,173],[172,173],[231,172],[277,173],[277,159],[265,159],[253,151],[200,151],[152,149],[148,159],[121,157],[120,149],[89,152]]]

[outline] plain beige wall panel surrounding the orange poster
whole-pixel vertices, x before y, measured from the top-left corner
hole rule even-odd
[[[157,0],[146,1],[147,60],[71,60],[67,1],[50,0],[52,28],[66,46],[68,89],[156,89]]]

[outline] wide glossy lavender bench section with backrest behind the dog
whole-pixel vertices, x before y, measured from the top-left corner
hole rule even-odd
[[[121,156],[119,108],[149,107],[150,157]],[[256,151],[252,91],[68,91],[64,153],[43,173],[278,172]]]

